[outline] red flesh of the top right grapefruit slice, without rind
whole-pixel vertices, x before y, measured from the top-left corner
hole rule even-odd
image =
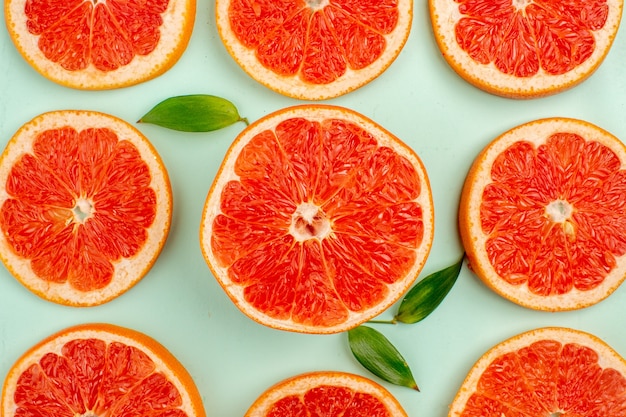
[[[585,62],[609,12],[606,0],[455,1],[463,15],[455,27],[459,46],[516,77],[540,69],[560,75]]]

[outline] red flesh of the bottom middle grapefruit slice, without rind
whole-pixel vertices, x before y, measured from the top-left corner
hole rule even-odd
[[[387,407],[373,395],[332,385],[318,386],[302,395],[281,398],[266,414],[267,417],[307,415],[391,417]]]

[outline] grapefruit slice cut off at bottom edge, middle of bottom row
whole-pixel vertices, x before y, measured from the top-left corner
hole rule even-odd
[[[265,391],[244,417],[406,417],[400,403],[374,381],[345,372],[318,371],[288,378]]]

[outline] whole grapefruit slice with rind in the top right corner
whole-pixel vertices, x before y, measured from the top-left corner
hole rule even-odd
[[[608,54],[623,0],[429,0],[450,66],[493,94],[533,98],[587,79]]]

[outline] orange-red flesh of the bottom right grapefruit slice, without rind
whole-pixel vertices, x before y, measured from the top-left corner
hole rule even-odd
[[[541,340],[496,358],[461,417],[624,416],[626,379],[595,350]]]

